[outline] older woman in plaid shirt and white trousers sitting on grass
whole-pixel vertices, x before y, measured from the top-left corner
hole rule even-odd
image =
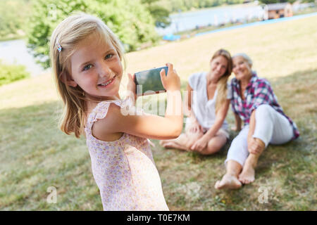
[[[215,188],[240,188],[254,181],[255,167],[268,143],[282,144],[299,136],[296,124],[283,113],[270,83],[251,70],[252,61],[244,53],[232,57],[235,78],[231,80],[232,110],[236,128],[225,160],[226,174]]]

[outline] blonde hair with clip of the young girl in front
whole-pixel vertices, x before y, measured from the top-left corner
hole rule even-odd
[[[124,61],[123,48],[119,39],[102,20],[85,13],[77,13],[63,20],[51,34],[50,58],[56,89],[63,100],[63,115],[59,123],[61,131],[66,134],[75,133],[77,138],[83,133],[86,120],[85,101],[89,95],[80,86],[68,86],[66,77],[70,78],[70,57],[75,53],[77,45],[89,35],[97,34],[104,41],[110,41]],[[101,99],[94,101],[101,101]]]

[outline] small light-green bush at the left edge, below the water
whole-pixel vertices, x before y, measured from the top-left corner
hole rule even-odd
[[[7,65],[0,61],[0,86],[30,77],[24,65]]]

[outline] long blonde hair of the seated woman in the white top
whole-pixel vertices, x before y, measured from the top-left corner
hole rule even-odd
[[[223,103],[225,103],[227,99],[227,82],[232,72],[232,58],[229,51],[225,49],[219,49],[218,51],[216,51],[216,53],[213,54],[211,61],[214,58],[217,58],[218,56],[225,57],[228,61],[228,65],[227,65],[227,70],[225,70],[225,74],[222,77],[220,77],[220,79],[218,79],[217,97],[216,97],[216,113],[218,112],[218,110],[221,108],[221,106],[223,105]]]

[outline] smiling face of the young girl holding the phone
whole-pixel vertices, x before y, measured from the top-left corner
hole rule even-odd
[[[92,34],[80,42],[70,57],[70,86],[79,85],[91,96],[118,96],[123,67],[111,41]]]

